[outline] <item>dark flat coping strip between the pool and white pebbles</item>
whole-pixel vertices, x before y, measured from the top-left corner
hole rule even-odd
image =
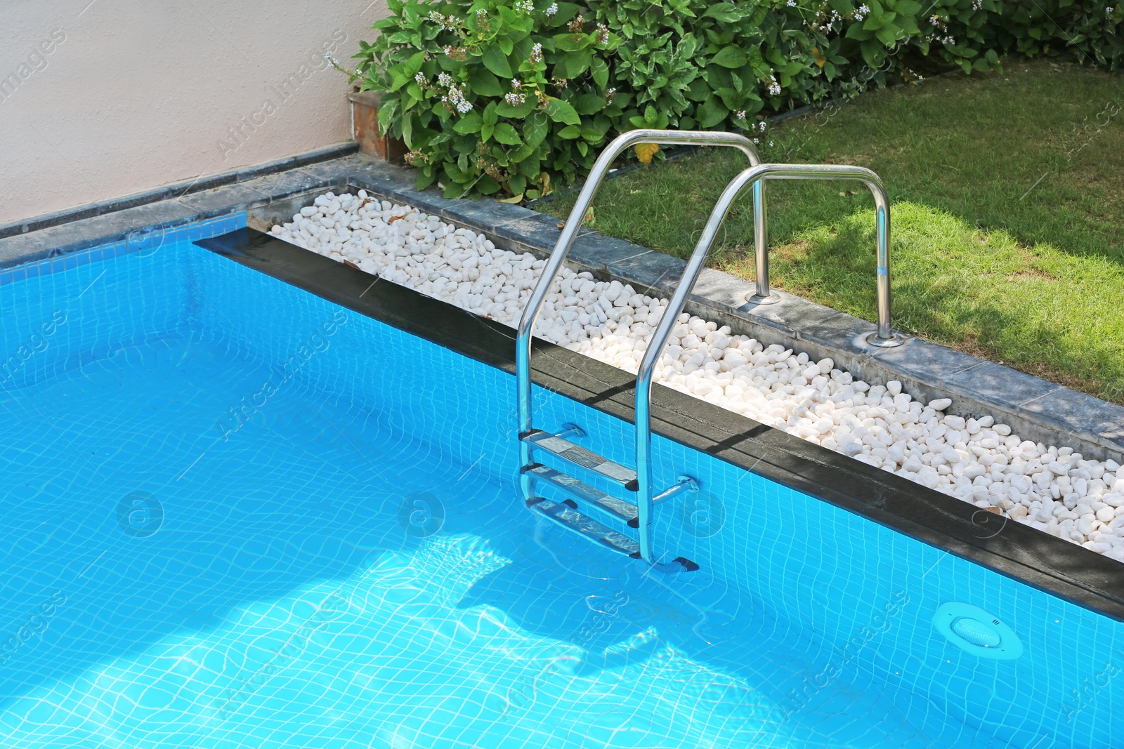
[[[513,330],[254,229],[196,243],[459,354],[515,372]],[[535,339],[534,382],[633,421],[634,378]],[[705,401],[656,385],[653,430],[692,449],[1124,621],[1120,563]]]

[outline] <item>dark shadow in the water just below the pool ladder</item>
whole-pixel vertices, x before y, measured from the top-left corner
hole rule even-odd
[[[538,530],[534,538],[500,539],[498,551],[511,564],[477,579],[457,608],[495,606],[523,630],[566,643],[556,668],[573,676],[619,672],[674,651],[780,697],[779,685],[772,692],[754,667],[769,670],[785,660],[762,660],[755,651],[755,634],[778,625],[761,602],[705,573],[668,577],[582,539]],[[790,665],[800,660],[786,657]]]

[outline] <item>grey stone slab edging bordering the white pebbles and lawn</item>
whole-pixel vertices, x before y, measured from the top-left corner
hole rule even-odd
[[[74,211],[84,218],[0,238],[0,267],[116,241],[138,228],[173,227],[241,210],[250,213],[253,226],[268,229],[290,220],[311,193],[348,185],[483,231],[507,249],[545,256],[554,248],[561,234],[555,217],[495,200],[446,200],[437,190],[416,190],[415,174],[362,154],[311,162],[293,157],[291,168],[250,171],[244,180],[111,212],[105,205],[85,207]],[[591,229],[579,232],[568,263],[661,295],[674,291],[686,270],[682,259]],[[899,380],[917,398],[950,398],[952,411],[992,414],[1025,439],[1068,445],[1086,457],[1124,458],[1124,408],[919,338],[898,348],[874,348],[865,342],[876,330],[872,322],[776,290],[781,299],[776,304],[746,302],[752,293],[751,283],[707,268],[687,311],[764,345],[828,356],[871,384]]]

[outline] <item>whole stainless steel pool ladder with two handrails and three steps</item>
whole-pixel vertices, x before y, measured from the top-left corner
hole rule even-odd
[[[551,285],[562,268],[570,246],[581,229],[586,211],[597,193],[613,161],[626,148],[642,144],[654,143],[665,145],[711,145],[732,146],[741,149],[750,159],[750,167],[738,174],[723,191],[717,204],[710,213],[706,228],[698,245],[687,264],[683,277],[679,282],[663,317],[652,334],[644,359],[636,375],[636,468],[609,460],[597,453],[586,449],[573,439],[584,437],[582,430],[568,424],[560,432],[547,432],[532,426],[531,393],[531,337],[535,320],[550,293]],[[663,353],[668,337],[674,327],[679,314],[683,311],[687,298],[698,281],[707,253],[714,243],[722,221],[731,204],[742,192],[752,185],[753,189],[753,240],[756,253],[758,293],[751,302],[767,304],[777,300],[769,290],[769,266],[767,255],[764,180],[767,179],[828,179],[859,180],[867,184],[874,195],[876,217],[878,223],[878,331],[868,337],[868,342],[876,347],[890,347],[901,344],[890,327],[890,276],[889,276],[889,207],[882,191],[881,182],[870,170],[855,166],[814,165],[814,164],[761,164],[752,141],[733,133],[674,131],[674,130],[631,130],[618,136],[610,143],[600,156],[589,179],[586,181],[578,201],[570,211],[558,245],[551,254],[543,274],[538,278],[527,307],[519,320],[518,340],[516,344],[516,378],[517,409],[519,427],[520,487],[524,500],[532,510],[553,520],[568,530],[608,547],[613,550],[640,558],[663,572],[691,572],[698,565],[683,557],[665,560],[658,554],[652,541],[652,520],[654,509],[683,492],[698,491],[698,483],[690,476],[680,476],[676,484],[659,494],[653,494],[652,471],[652,424],[651,394],[652,374],[655,364]],[[579,471],[589,472],[598,479],[607,482],[613,491],[620,496],[602,492],[583,481],[561,473],[543,463],[536,462],[541,456],[547,460],[561,460]],[[571,469],[571,468],[568,468]],[[554,490],[552,495],[561,495],[562,500],[541,496],[540,487]],[[606,521],[608,524],[606,524]],[[633,532],[635,531],[635,532]]]

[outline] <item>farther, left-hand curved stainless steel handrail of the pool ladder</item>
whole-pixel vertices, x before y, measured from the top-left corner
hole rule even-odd
[[[543,267],[543,273],[538,277],[538,283],[535,285],[534,291],[531,293],[531,299],[527,301],[527,307],[523,310],[523,317],[519,318],[518,334],[515,344],[515,374],[517,389],[516,410],[518,413],[520,436],[531,431],[531,338],[535,328],[535,321],[538,319],[538,313],[542,310],[543,302],[546,300],[546,294],[550,293],[551,284],[554,282],[554,277],[561,270],[562,263],[570,253],[570,246],[573,245],[574,237],[577,237],[578,231],[581,230],[586,211],[589,210],[589,204],[593,201],[593,195],[597,194],[598,188],[601,186],[601,182],[605,180],[605,175],[608,173],[614,159],[616,159],[616,157],[629,146],[635,146],[642,143],[676,146],[732,146],[744,153],[750,159],[751,165],[756,166],[761,163],[761,157],[758,155],[758,150],[754,148],[753,141],[743,135],[734,133],[708,133],[705,130],[629,130],[628,133],[624,133],[614,138],[613,141],[605,147],[605,150],[601,152],[601,154],[597,157],[597,161],[593,163],[593,168],[590,170],[589,177],[586,180],[584,186],[582,186],[581,192],[578,194],[578,202],[574,203],[573,209],[570,211],[570,217],[566,219],[565,226],[562,229],[562,235],[559,237],[559,241],[554,246],[554,252],[551,253],[550,259],[546,261],[546,265]],[[754,247],[756,248],[759,256],[765,252],[767,246],[764,205],[764,183],[758,181],[753,185],[753,238]],[[519,440],[519,459],[524,466],[531,463],[531,445],[522,439]],[[524,474],[519,484],[523,490],[524,500],[529,501],[532,499],[531,476]],[[651,496],[651,487],[649,487],[649,496]]]

